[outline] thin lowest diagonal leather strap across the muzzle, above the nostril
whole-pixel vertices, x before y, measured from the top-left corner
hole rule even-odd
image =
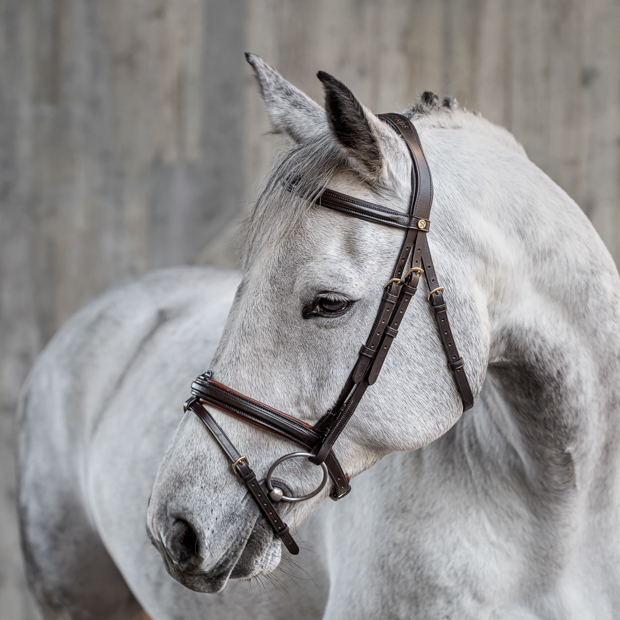
[[[256,474],[250,467],[247,457],[243,457],[239,454],[239,452],[237,452],[237,449],[228,439],[226,433],[224,433],[220,425],[196,398],[190,399],[186,403],[186,408],[191,409],[198,416],[200,421],[207,427],[215,441],[219,444],[220,448],[222,448],[222,451],[226,455],[226,458],[230,461],[230,464],[233,465],[233,472],[248,488],[248,491],[258,504],[258,507],[269,522],[269,525],[271,525],[275,534],[293,555],[297,555],[299,553],[299,547],[297,546],[294,538],[291,536],[288,525],[282,521],[275,506],[263,490],[263,487],[259,484],[256,479]]]

